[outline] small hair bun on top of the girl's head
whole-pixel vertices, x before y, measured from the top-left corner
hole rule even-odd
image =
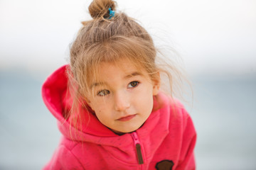
[[[89,6],[90,16],[92,18],[108,18],[110,13],[109,8],[115,10],[116,2],[112,0],[93,0]]]

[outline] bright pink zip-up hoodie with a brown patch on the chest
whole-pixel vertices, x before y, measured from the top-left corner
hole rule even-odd
[[[164,103],[161,108],[152,111],[135,132],[116,135],[91,113],[85,113],[90,121],[82,130],[71,126],[63,116],[70,104],[66,67],[60,67],[43,84],[43,101],[63,134],[43,169],[195,169],[196,131],[191,117],[181,103],[171,102],[164,94],[158,95]]]

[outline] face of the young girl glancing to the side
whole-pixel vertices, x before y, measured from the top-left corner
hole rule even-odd
[[[152,111],[159,80],[151,81],[146,71],[128,60],[102,62],[98,78],[87,103],[100,122],[117,134],[140,128]]]

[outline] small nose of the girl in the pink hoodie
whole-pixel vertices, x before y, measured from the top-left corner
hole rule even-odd
[[[125,92],[119,92],[114,95],[114,109],[116,111],[125,111],[129,108],[129,95]]]

